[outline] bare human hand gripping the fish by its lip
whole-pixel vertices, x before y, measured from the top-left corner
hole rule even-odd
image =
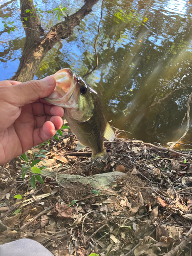
[[[44,103],[56,85],[52,76],[20,83],[0,82],[0,165],[55,135],[63,108]]]

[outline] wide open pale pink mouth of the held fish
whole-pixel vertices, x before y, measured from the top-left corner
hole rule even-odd
[[[72,108],[69,100],[75,90],[75,75],[71,69],[65,68],[59,70],[52,76],[56,80],[56,87],[54,91],[44,99],[49,103],[62,106],[63,108]]]

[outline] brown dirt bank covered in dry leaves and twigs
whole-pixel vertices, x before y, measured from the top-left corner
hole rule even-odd
[[[76,137],[62,133],[26,153],[44,166],[45,183],[35,189],[29,172],[22,179],[20,158],[0,167],[1,244],[30,238],[55,256],[192,255],[190,150],[119,138],[117,130],[104,143],[109,158],[92,162],[88,148],[76,152]]]

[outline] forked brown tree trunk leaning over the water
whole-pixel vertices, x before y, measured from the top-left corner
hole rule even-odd
[[[98,0],[87,0],[85,4],[76,13],[66,17],[65,21],[57,23],[45,35],[44,30],[40,25],[33,2],[30,0],[20,0],[21,19],[26,32],[26,42],[24,51],[20,58],[20,63],[17,72],[11,78],[20,82],[32,80],[42,59],[47,52],[60,39],[65,39],[73,33],[80,21],[92,11],[92,7]],[[26,13],[26,10],[34,10]],[[25,20],[27,18],[27,20]],[[43,37],[42,37],[43,36]]]

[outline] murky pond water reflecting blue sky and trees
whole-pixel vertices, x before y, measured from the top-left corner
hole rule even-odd
[[[9,4],[6,4],[9,3]],[[37,1],[45,31],[58,20],[42,11],[53,10],[59,1]],[[0,36],[0,79],[10,79],[19,65],[25,32],[17,1],[0,2],[0,31],[6,14],[18,31]],[[71,15],[83,1],[62,1]],[[35,79],[69,67],[84,75],[95,66],[94,40],[101,2],[84,18],[73,35],[61,40],[41,62]],[[129,131],[129,138],[166,144],[185,131],[187,100],[191,93],[191,14],[187,1],[104,1],[99,66],[86,77],[101,95],[111,124]],[[47,27],[46,27],[47,26]],[[192,120],[192,119],[191,119]],[[192,121],[182,141],[192,141]],[[192,142],[191,142],[192,144]]]

